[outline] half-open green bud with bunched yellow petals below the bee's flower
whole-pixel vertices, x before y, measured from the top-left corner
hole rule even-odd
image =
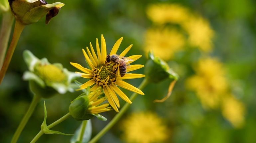
[[[88,89],[88,91],[89,90],[90,89]],[[110,111],[111,109],[108,103],[99,105],[107,99],[106,97],[100,98],[101,94],[101,88],[98,88],[94,91],[86,92],[78,96],[69,105],[68,110],[70,115],[78,121],[89,120],[93,116],[96,116],[98,119],[101,118],[101,120],[105,120],[98,113]]]

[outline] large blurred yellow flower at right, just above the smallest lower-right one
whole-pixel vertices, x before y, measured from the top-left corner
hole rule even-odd
[[[195,66],[196,75],[190,77],[186,86],[196,92],[204,108],[217,108],[221,96],[227,90],[223,65],[215,58],[200,59]]]

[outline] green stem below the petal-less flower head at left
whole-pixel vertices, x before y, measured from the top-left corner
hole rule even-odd
[[[34,95],[27,113],[25,114],[25,116],[21,120],[20,125],[18,126],[18,128],[16,129],[16,131],[15,131],[13,137],[12,137],[11,143],[16,143],[17,142],[17,140],[18,140],[18,138],[19,138],[23,128],[27,124],[30,116],[32,115],[32,113],[33,113],[35,107],[37,106],[37,103],[40,101],[40,99],[41,99],[40,96]]]

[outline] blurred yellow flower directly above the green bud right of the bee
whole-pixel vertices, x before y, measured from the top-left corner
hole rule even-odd
[[[153,50],[163,60],[171,59],[175,52],[183,50],[185,38],[176,29],[148,29],[145,35],[145,52]]]

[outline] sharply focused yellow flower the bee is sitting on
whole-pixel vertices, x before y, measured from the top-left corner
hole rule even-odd
[[[114,44],[110,55],[116,54],[121,42],[123,40],[123,37],[118,39],[116,41],[116,43]],[[128,48],[126,48],[119,56],[125,56],[127,54],[127,52],[131,49],[132,45],[130,45]],[[91,50],[91,52],[90,52]],[[116,96],[116,94],[118,94],[123,100],[125,100],[128,103],[132,103],[130,101],[130,99],[123,93],[123,91],[121,91],[117,86],[139,93],[141,95],[144,95],[144,93],[124,82],[123,80],[125,79],[134,79],[134,78],[142,78],[145,77],[145,75],[143,74],[133,74],[133,73],[126,73],[123,77],[120,76],[119,70],[118,70],[118,64],[116,63],[111,63],[108,64],[106,63],[106,56],[107,56],[107,50],[106,50],[106,42],[105,39],[103,37],[103,35],[101,35],[101,51],[99,48],[99,43],[98,43],[98,39],[96,39],[96,51],[97,51],[97,55],[95,54],[93,47],[90,43],[90,50],[88,47],[86,47],[86,51],[83,51],[83,54],[85,56],[86,62],[89,66],[88,68],[84,68],[82,67],[80,64],[77,63],[70,63],[71,65],[73,65],[74,67],[76,67],[77,69],[83,71],[84,73],[80,73],[80,72],[76,72],[81,74],[81,77],[83,78],[87,78],[90,79],[88,82],[86,82],[85,84],[80,86],[80,89],[85,89],[88,86],[92,86],[94,85],[91,90],[95,90],[98,87],[101,87],[104,90],[104,93],[107,97],[107,100],[109,102],[109,104],[113,107],[113,109],[118,112],[118,108],[120,107],[119,105],[119,100]],[[132,61],[129,61],[129,63],[132,63],[133,61],[139,59],[142,55],[132,55],[129,56],[129,59],[132,59]],[[144,67],[144,65],[128,65],[127,66],[127,71],[126,72],[130,72],[139,68]],[[118,107],[118,108],[117,108]]]

